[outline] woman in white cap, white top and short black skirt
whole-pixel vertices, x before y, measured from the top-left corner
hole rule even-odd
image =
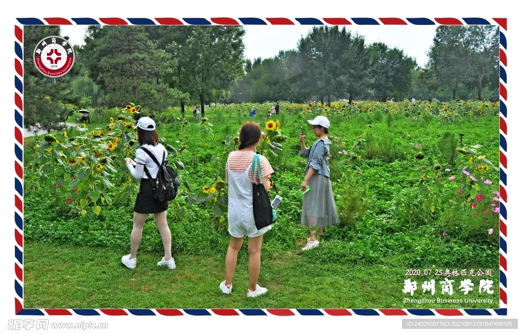
[[[140,181],[140,192],[134,204],[134,219],[131,232],[131,254],[122,256],[122,264],[129,269],[136,268],[136,253],[140,240],[142,239],[142,230],[145,220],[149,213],[154,214],[154,221],[158,227],[158,231],[162,236],[164,245],[164,257],[158,266],[166,266],[169,269],[176,268],[173,256],[171,254],[171,234],[169,226],[167,225],[167,208],[168,202],[158,202],[154,199],[154,190],[151,181],[147,177],[145,169],[153,179],[160,170],[158,165],[142,148],[150,151],[158,162],[167,159],[167,150],[160,144],[158,140],[158,133],[156,132],[156,124],[150,117],[142,117],[138,120],[137,126],[134,127],[138,131],[138,142],[141,147],[136,150],[136,162],[131,158],[126,158],[126,165],[129,172],[135,179]]]

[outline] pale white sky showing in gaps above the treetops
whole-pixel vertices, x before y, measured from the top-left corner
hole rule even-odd
[[[435,26],[346,26],[353,34],[365,37],[367,44],[383,42],[391,47],[398,47],[404,53],[416,59],[419,66],[428,61],[426,51],[432,45],[436,33]],[[83,44],[85,26],[62,26],[62,35],[69,36],[69,42]],[[244,26],[246,32],[245,58],[253,60],[274,57],[280,50],[291,50],[297,47],[301,37],[305,37],[312,26]]]

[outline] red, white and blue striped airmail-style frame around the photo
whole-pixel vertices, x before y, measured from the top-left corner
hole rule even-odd
[[[507,31],[506,18],[17,18],[15,40],[15,314],[52,315],[274,315],[274,316],[506,316],[507,315]],[[499,26],[499,308],[497,309],[29,309],[24,308],[24,26],[35,25],[498,25]],[[27,56],[27,55],[26,55]]]

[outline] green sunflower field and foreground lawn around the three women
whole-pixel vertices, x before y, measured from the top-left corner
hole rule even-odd
[[[179,108],[99,109],[86,127],[25,139],[24,307],[497,307],[497,103],[281,103],[269,120],[270,105],[209,106],[200,123],[180,118]],[[252,108],[266,134],[258,152],[275,169],[272,181],[284,200],[262,247],[260,285],[270,294],[246,301],[246,249],[231,296],[221,295],[218,284],[229,244],[223,168]],[[326,230],[319,247],[302,252],[308,231],[299,225],[305,161],[298,135],[303,126],[312,145],[306,120],[319,114],[331,121],[329,166],[341,223]],[[174,271],[156,268],[163,246],[152,217],[137,269],[120,264],[138,193],[123,158],[134,157],[132,127],[143,115],[156,120],[180,176],[167,213]],[[408,278],[418,281],[412,298],[427,298],[421,289],[427,278],[406,276],[408,269],[430,269],[433,276],[436,269],[492,269],[483,278],[494,281],[493,294],[478,292],[480,277],[467,278],[474,283],[471,298],[495,304],[404,304]],[[459,288],[464,277],[453,278],[452,296],[442,295],[440,277],[433,278],[434,298],[468,297]]]

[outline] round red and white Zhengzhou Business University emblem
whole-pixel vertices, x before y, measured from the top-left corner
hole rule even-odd
[[[46,37],[36,45],[33,60],[44,76],[61,77],[73,67],[73,45],[59,36]]]

